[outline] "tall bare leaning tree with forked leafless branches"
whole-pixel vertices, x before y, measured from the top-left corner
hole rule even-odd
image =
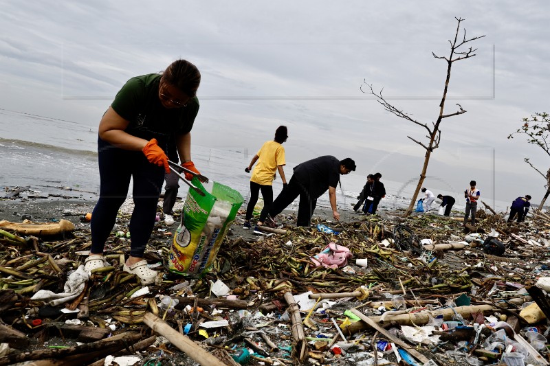
[[[413,207],[415,207],[415,203],[417,201],[418,193],[420,192],[420,189],[422,187],[422,183],[424,179],[426,178],[426,171],[428,170],[428,163],[430,161],[430,156],[432,155],[432,152],[439,148],[439,143],[441,142],[441,130],[439,130],[439,124],[441,124],[441,121],[444,118],[453,117],[455,115],[461,115],[463,113],[466,113],[466,111],[462,108],[460,104],[456,104],[458,106],[458,111],[454,113],[444,114],[444,107],[445,107],[445,99],[447,98],[447,91],[449,88],[449,81],[451,78],[451,67],[452,64],[459,60],[465,60],[466,58],[470,58],[473,56],[476,56],[474,52],[476,52],[477,49],[472,49],[472,47],[469,47],[468,49],[460,49],[460,47],[464,46],[468,42],[475,41],[478,38],[482,38],[485,36],[477,36],[474,38],[468,38],[466,39],[466,30],[464,29],[464,34],[462,40],[459,39],[459,32],[460,32],[460,23],[464,21],[464,19],[461,18],[454,18],[458,22],[456,25],[456,32],[454,34],[454,41],[449,41],[450,43],[450,54],[449,56],[437,56],[432,52],[432,55],[434,58],[438,58],[441,60],[445,60],[447,62],[447,78],[445,78],[445,87],[443,88],[443,96],[441,97],[441,102],[439,103],[439,116],[437,117],[437,121],[434,123],[432,122],[431,126],[428,126],[428,124],[419,122],[416,119],[413,119],[408,115],[407,113],[404,113],[404,111],[399,110],[399,108],[393,106],[390,104],[386,99],[384,99],[384,96],[382,95],[382,90],[380,93],[376,93],[373,89],[372,84],[368,84],[366,81],[364,81],[364,85],[369,87],[366,91],[363,89],[364,86],[362,85],[361,91],[363,93],[372,94],[377,98],[377,102],[382,104],[384,109],[386,111],[393,113],[394,115],[397,115],[397,117],[401,117],[406,119],[408,122],[412,122],[413,124],[417,124],[418,126],[421,126],[422,128],[426,129],[427,135],[426,138],[429,140],[427,143],[423,143],[421,141],[418,141],[417,139],[413,139],[410,136],[407,136],[409,139],[414,141],[416,144],[419,144],[426,150],[426,155],[424,155],[424,163],[422,166],[422,171],[420,173],[420,178],[418,180],[417,187],[415,189],[415,194],[412,196],[412,200],[410,201],[410,205],[407,208],[407,211],[405,212],[405,217],[409,216],[412,212]],[[460,49],[460,50],[459,50]]]

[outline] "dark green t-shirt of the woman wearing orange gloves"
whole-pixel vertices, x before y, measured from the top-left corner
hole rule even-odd
[[[159,99],[160,78],[157,73],[131,78],[117,93],[111,108],[130,122],[127,133],[146,140],[155,138],[168,152],[170,135],[184,135],[191,130],[199,113],[199,100],[195,97],[182,108],[164,108]]]

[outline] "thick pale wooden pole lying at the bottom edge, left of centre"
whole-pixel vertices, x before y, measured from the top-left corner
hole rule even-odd
[[[191,341],[187,336],[179,334],[155,314],[146,312],[143,317],[143,322],[146,323],[152,330],[158,334],[165,336],[168,341],[175,345],[179,350],[185,352],[190,358],[197,361],[203,366],[224,366],[223,362],[219,361],[216,356],[206,352],[200,345]]]

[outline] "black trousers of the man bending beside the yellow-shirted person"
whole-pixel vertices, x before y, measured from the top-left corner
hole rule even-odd
[[[273,201],[270,216],[274,218],[281,214],[283,209],[287,208],[298,196],[300,196],[300,206],[298,207],[296,226],[311,225],[311,216],[314,214],[317,198],[312,198],[307,188],[294,176],[290,179],[287,187]]]

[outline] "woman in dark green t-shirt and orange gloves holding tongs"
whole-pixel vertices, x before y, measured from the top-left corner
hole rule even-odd
[[[168,139],[175,135],[181,165],[198,173],[191,161],[190,130],[199,111],[200,82],[195,65],[177,60],[161,74],[128,80],[104,113],[98,128],[100,196],[91,216],[87,272],[109,266],[103,249],[132,179],[131,249],[123,270],[137,275],[144,285],[155,282],[157,272],[147,267],[143,256],[155,225],[164,174],[170,172]],[[186,179],[192,174],[186,173]]]

